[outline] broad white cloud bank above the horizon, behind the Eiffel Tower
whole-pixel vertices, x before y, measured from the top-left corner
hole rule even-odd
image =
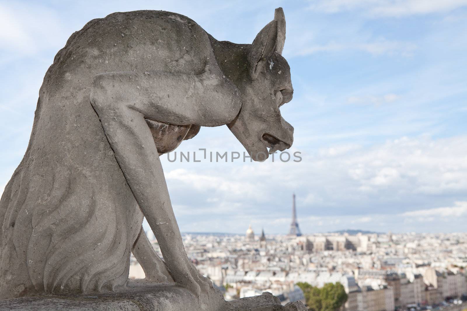
[[[170,170],[166,178],[176,214],[181,215],[179,223],[190,228],[193,217],[211,215],[222,218],[226,231],[235,232],[238,219],[230,220],[233,214],[269,231],[286,228],[291,194],[296,192],[304,232],[348,224],[375,231],[413,231],[423,229],[420,221],[427,217],[436,220],[433,211],[449,215],[439,206],[467,200],[466,141],[467,136],[403,137],[372,146],[333,145],[305,152],[299,163],[186,163],[184,169]],[[188,199],[182,202],[183,197]],[[465,205],[453,207],[453,215],[464,213]],[[434,209],[428,214],[413,212],[430,208]],[[410,226],[406,219],[412,220]],[[232,229],[227,230],[229,226]]]

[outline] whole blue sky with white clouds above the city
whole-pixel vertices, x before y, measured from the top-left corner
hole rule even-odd
[[[42,78],[68,37],[116,11],[187,15],[251,43],[283,7],[294,99],[281,107],[301,162],[170,163],[182,231],[465,231],[467,1],[0,1],[0,190],[26,150]],[[224,127],[180,151],[243,152]]]

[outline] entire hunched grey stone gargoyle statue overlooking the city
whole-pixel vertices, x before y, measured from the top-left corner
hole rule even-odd
[[[201,126],[227,125],[255,160],[289,148],[284,40],[282,8],[252,44],[164,11],[110,14],[71,35],[1,197],[0,298],[116,290],[132,251],[148,281],[218,295],[185,253],[159,155]]]

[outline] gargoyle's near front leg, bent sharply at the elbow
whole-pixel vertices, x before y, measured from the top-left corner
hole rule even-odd
[[[145,118],[170,124],[216,126],[241,107],[236,87],[206,71],[200,76],[135,72],[95,77],[90,100],[127,183],[156,235],[175,282],[194,293],[212,283],[188,260],[170,204],[161,162]]]

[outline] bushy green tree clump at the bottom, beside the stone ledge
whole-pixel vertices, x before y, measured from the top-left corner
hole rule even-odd
[[[299,282],[297,286],[303,290],[311,311],[336,311],[347,301],[347,293],[341,283],[327,283],[323,288],[318,288]]]

